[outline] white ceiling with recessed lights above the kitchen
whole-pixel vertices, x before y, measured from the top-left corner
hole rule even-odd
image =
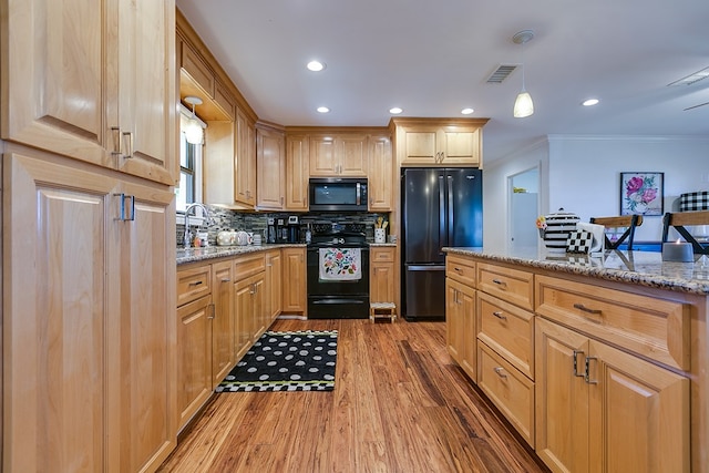
[[[709,136],[708,0],[177,0],[259,119],[386,126],[402,116],[490,117],[484,160],[549,134]],[[521,68],[535,113],[513,119]],[[327,69],[312,73],[318,59]],[[600,103],[583,107],[597,97]],[[331,112],[319,114],[317,106]]]

